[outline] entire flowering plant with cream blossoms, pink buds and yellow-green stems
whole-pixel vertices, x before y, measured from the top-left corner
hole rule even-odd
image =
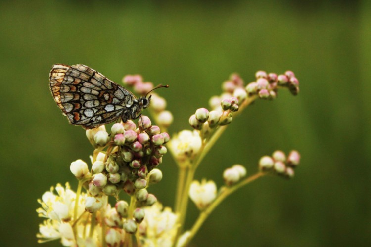
[[[64,246],[120,247],[133,246],[135,236],[137,246],[186,246],[214,208],[238,188],[267,174],[293,177],[300,154],[291,151],[286,156],[275,151],[260,159],[255,174],[246,176],[246,168],[239,164],[226,168],[225,185],[219,189],[213,180],[194,180],[197,167],[242,110],[256,99],[275,99],[279,88],[294,95],[299,92],[299,82],[291,71],[283,75],[258,71],[255,77],[255,82],[245,85],[239,75],[232,74],[223,82],[222,94],[209,100],[210,111],[199,108],[189,117],[193,130],[182,130],[171,140],[166,129],[173,115],[166,110],[166,100],[155,93],[148,99],[157,125],[142,115],[138,124],[132,120],[113,124],[110,133],[104,125],[87,130],[94,148],[92,165],[80,159],[71,163],[70,170],[79,181],[76,192],[68,183],[65,187],[57,184],[38,200],[41,207],[37,212],[46,218],[39,227],[39,242],[60,239]],[[123,83],[142,96],[156,89],[140,75],[125,76]],[[168,149],[179,168],[173,210],[163,207],[147,190],[162,180],[158,167]],[[122,191],[130,201],[119,197]],[[110,196],[116,200],[114,206],[109,204]],[[185,230],[189,199],[200,214]]]

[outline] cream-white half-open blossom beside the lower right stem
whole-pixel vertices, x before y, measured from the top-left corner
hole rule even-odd
[[[205,179],[201,183],[194,180],[189,188],[189,197],[202,210],[209,206],[216,198],[217,187],[214,181]]]

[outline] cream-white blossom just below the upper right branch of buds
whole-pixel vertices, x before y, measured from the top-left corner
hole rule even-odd
[[[171,140],[172,149],[179,160],[194,157],[201,148],[202,140],[198,131],[183,130]]]

